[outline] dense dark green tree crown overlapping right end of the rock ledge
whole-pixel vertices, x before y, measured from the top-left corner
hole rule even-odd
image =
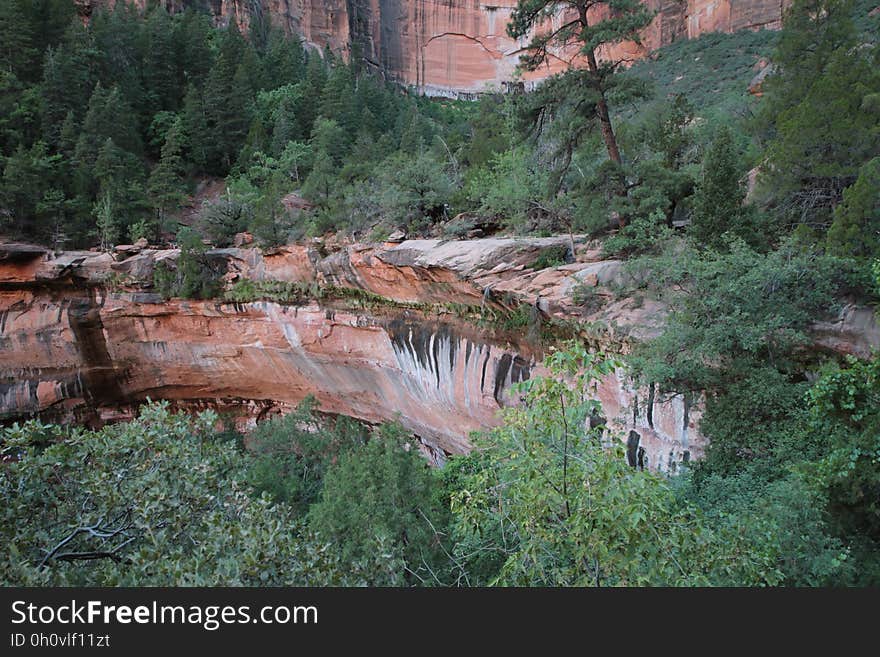
[[[764,361],[796,371],[809,328],[852,275],[846,261],[794,242],[763,254],[735,239],[725,253],[673,247],[632,269],[671,309],[663,335],[633,363],[646,382],[675,392],[723,388]]]

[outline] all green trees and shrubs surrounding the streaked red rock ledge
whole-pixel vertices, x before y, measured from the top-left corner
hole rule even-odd
[[[636,3],[556,36],[589,55]],[[548,3],[521,0],[523,35]],[[880,48],[870,2],[795,0],[534,91],[429,100],[356,58],[205,13],[0,4],[0,232],[182,250],[166,296],[219,293],[205,242],[336,232],[586,233],[670,308],[623,362],[579,345],[430,470],[399,426],[311,402],[244,440],[145,406],[2,434],[0,577],[20,584],[876,585],[878,359],[811,327],[880,287]],[[528,67],[550,45],[531,44]],[[762,62],[763,60],[763,62]],[[772,67],[761,95],[746,87]],[[613,147],[612,147],[613,142]],[[181,212],[200,184],[225,191]],[[283,199],[295,194],[304,202]],[[569,254],[570,255],[570,254]],[[586,302],[585,302],[586,303]],[[585,432],[596,377],[704,396],[704,460],[666,479]],[[85,467],[83,464],[89,464]],[[121,483],[110,485],[110,481]]]

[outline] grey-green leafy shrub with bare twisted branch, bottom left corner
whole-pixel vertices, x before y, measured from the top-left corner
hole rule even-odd
[[[37,422],[3,432],[0,534],[7,585],[356,584],[291,510],[242,483],[242,455],[213,439],[216,415],[166,403],[100,431]],[[87,464],[87,465],[86,465]]]

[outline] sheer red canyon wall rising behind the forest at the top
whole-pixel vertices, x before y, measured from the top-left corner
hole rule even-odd
[[[77,0],[83,13],[114,0]],[[136,0],[145,5],[147,0]],[[637,60],[681,38],[705,32],[778,29],[789,0],[645,0],[656,12],[642,43],[616,46],[613,55]],[[501,88],[515,79],[526,40],[507,35],[516,0],[165,0],[172,10],[209,8],[219,23],[247,29],[266,21],[299,34],[314,48],[349,56],[353,48],[389,77],[432,95],[462,96]],[[596,10],[598,11],[598,10]],[[560,12],[550,21],[566,20]],[[530,83],[564,68],[571,53],[516,78]]]

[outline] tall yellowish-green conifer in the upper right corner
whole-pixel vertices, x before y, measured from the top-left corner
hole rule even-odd
[[[866,162],[880,155],[876,47],[857,47],[851,0],[799,0],[767,80],[763,193],[790,224],[827,229]]]

